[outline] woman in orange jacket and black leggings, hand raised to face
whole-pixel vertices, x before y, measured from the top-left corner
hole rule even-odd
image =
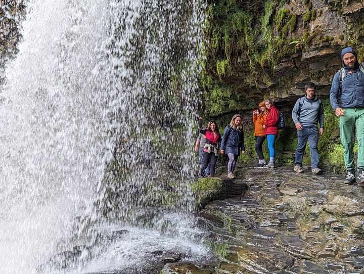
[[[259,157],[259,163],[257,168],[262,168],[266,165],[263,156],[263,143],[265,141],[265,129],[263,124],[265,124],[266,116],[268,112],[266,111],[265,101],[259,103],[259,110],[253,111],[253,123],[254,123],[254,137],[255,137],[255,151]]]

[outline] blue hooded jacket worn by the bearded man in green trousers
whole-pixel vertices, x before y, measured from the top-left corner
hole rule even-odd
[[[338,107],[364,108],[364,73],[359,69],[357,59],[353,69],[349,69],[344,64],[343,57],[346,53],[352,53],[356,58],[356,52],[350,47],[341,51],[341,61],[345,69],[345,76],[342,79],[340,88],[340,71],[334,75],[330,90],[330,103],[334,111]]]

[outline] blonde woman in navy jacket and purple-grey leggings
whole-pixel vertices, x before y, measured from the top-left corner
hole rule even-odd
[[[228,178],[234,179],[233,174],[240,151],[245,153],[244,130],[241,123],[241,115],[235,114],[228,126],[226,126],[221,141],[221,154],[228,154]]]

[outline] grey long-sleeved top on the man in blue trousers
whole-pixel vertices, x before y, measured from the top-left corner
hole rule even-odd
[[[297,118],[300,100],[302,102],[301,114]],[[292,120],[294,123],[300,122],[302,127],[317,126],[318,122],[320,127],[324,128],[324,108],[320,104],[319,98],[315,96],[313,100],[308,100],[305,96],[303,99],[298,99],[292,110]]]

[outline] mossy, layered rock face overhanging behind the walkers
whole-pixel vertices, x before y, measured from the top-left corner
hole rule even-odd
[[[350,45],[364,60],[363,10],[355,3],[310,0],[208,2],[201,86],[205,90],[204,115],[223,128],[235,113],[243,115],[245,164],[256,164],[251,113],[260,101],[271,98],[285,112],[286,128],[276,142],[278,164],[294,163],[297,145],[291,111],[304,85],[313,81],[325,108],[325,130],[319,139],[321,165],[343,170],[338,119],[330,105],[333,75],[340,69],[341,49]],[[334,22],[331,18],[337,18]],[[351,28],[355,25],[355,28]],[[338,35],[339,33],[340,35]],[[276,104],[276,105],[277,105]],[[269,157],[266,145],[264,156]],[[226,162],[224,162],[226,164]],[[303,159],[310,164],[308,146]]]

